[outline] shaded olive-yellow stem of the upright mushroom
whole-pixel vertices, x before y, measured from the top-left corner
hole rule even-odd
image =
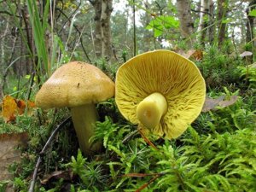
[[[77,136],[79,147],[84,154],[91,154],[101,148],[101,143],[89,142],[94,135],[94,125],[97,120],[96,107],[93,103],[71,108],[71,116]]]

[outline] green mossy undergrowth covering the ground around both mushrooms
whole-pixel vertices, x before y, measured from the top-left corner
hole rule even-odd
[[[96,62],[114,77],[116,67],[105,64]],[[82,154],[70,122],[42,156],[35,191],[256,191],[254,69],[216,47],[207,49],[196,64],[207,81],[208,96],[237,96],[236,102],[201,113],[182,137],[152,140],[156,148],[121,116],[114,99],[102,102],[97,105],[100,119],[91,138],[102,142],[101,153]],[[6,132],[28,131],[31,138],[20,164],[9,167],[15,191],[28,191],[38,153],[68,116],[67,108],[37,109],[12,125],[3,124]],[[0,183],[0,189],[5,187],[5,182]]]

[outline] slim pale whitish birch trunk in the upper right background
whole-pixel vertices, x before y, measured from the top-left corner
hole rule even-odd
[[[201,45],[205,44],[205,38],[207,35],[206,27],[209,24],[209,0],[201,0],[200,5],[200,20],[199,20],[199,26],[197,28],[198,36],[197,39],[200,42]]]

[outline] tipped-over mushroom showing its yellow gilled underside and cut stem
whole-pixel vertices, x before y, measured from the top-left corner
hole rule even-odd
[[[143,132],[177,138],[201,113],[206,85],[192,61],[168,50],[137,55],[119,67],[119,112]]]

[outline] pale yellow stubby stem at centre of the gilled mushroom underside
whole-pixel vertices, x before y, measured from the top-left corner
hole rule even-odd
[[[137,119],[149,130],[160,123],[167,111],[166,97],[158,92],[147,96],[137,106]]]

